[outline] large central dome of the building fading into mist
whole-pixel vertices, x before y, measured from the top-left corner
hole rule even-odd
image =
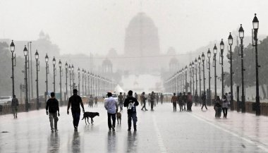
[[[128,61],[128,70],[134,73],[150,73],[159,70],[157,60],[150,58],[159,56],[159,37],[157,27],[152,18],[145,13],[138,13],[126,27],[124,56]]]

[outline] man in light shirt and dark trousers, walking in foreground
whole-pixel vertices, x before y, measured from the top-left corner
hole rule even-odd
[[[109,130],[113,129],[116,127],[116,112],[118,111],[118,105],[116,102],[116,99],[112,97],[111,92],[107,93],[108,98],[105,99],[104,102],[104,107],[107,110],[107,115],[108,115],[108,128]],[[111,119],[113,121],[113,125],[111,125]]]

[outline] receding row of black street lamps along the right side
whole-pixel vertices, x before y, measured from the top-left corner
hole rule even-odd
[[[260,67],[257,60],[257,30],[259,29],[259,20],[256,17],[252,20],[253,25],[253,39],[252,39],[252,46],[255,47],[255,66],[256,66],[256,115],[260,115],[260,95],[259,95],[259,77],[258,77],[258,68]],[[244,30],[242,25],[240,25],[240,28],[238,30],[239,32],[239,38],[240,38],[240,49],[238,51],[239,56],[241,56],[241,85],[242,85],[242,103],[241,103],[241,109],[242,112],[245,112],[245,87],[244,87],[244,66],[243,66],[243,38],[244,38]],[[230,79],[231,79],[231,110],[233,110],[233,65],[232,65],[232,45],[233,45],[233,37],[231,35],[231,32],[228,37],[228,43],[229,43],[229,53],[227,54],[227,58],[230,60]],[[220,54],[219,54],[219,64],[221,65],[221,95],[224,95],[224,41],[221,39],[220,42]],[[217,46],[214,44],[213,48],[213,67],[214,67],[214,96],[217,97]],[[207,51],[207,69],[209,73],[209,89],[207,92],[207,102],[209,105],[212,104],[211,102],[211,90],[210,90],[210,57],[211,57],[211,51],[208,49]],[[188,71],[188,66],[185,66],[184,68],[181,68],[181,70],[177,71],[175,74],[173,74],[169,79],[167,79],[164,82],[164,87],[167,92],[188,92],[188,80],[187,80],[187,72],[190,76],[190,92],[197,95],[197,69],[199,70],[199,81],[200,81],[200,96],[201,96],[201,60],[202,60],[202,72],[203,72],[203,90],[205,92],[205,54],[204,52],[200,56],[198,56],[198,59],[195,59],[195,61],[190,62]],[[198,65],[197,65],[198,63]],[[195,78],[194,78],[195,75]],[[193,80],[193,81],[192,81]],[[196,83],[196,90],[195,90],[195,83]],[[192,84],[193,84],[193,90],[192,90]],[[192,92],[193,91],[193,92]],[[239,106],[238,106],[239,107]]]

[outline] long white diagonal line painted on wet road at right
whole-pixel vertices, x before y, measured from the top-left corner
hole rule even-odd
[[[248,143],[250,143],[250,144],[252,144],[252,145],[257,145],[257,147],[259,147],[260,149],[264,150],[265,152],[268,152],[267,147],[264,147],[263,145],[260,145],[260,144],[256,144],[256,142],[254,142],[254,141],[252,141],[252,140],[250,140],[250,139],[248,139],[248,138],[246,138],[246,137],[243,137],[243,135],[238,135],[238,134],[232,132],[231,130],[226,130],[226,129],[224,129],[224,128],[221,128],[221,126],[217,126],[216,124],[207,121],[207,119],[202,118],[201,116],[197,116],[197,115],[195,115],[195,114],[191,114],[191,113],[189,113],[189,114],[190,114],[191,116],[197,118],[198,120],[203,121],[203,122],[205,122],[205,123],[208,123],[209,125],[214,126],[215,128],[218,128],[219,130],[223,130],[224,132],[229,133],[229,134],[231,134],[231,135],[233,135],[233,136],[235,136],[235,137],[238,137],[239,139],[242,139],[242,140],[244,140],[245,142],[248,142]]]

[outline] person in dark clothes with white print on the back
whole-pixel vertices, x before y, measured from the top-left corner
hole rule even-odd
[[[131,90],[128,91],[128,97],[126,98],[123,106],[128,108],[128,131],[131,130],[131,119],[133,120],[133,128],[134,131],[137,130],[137,113],[136,113],[136,106],[139,105],[139,102],[135,97],[132,96],[133,92]]]

